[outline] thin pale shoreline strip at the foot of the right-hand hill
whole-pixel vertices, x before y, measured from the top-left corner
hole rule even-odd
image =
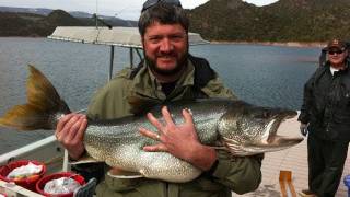
[[[327,44],[319,43],[319,42],[222,42],[222,40],[211,40],[210,44],[234,44],[234,45],[264,45],[264,46],[285,46],[285,47],[299,47],[299,48],[306,48],[306,47],[318,47],[323,48]]]

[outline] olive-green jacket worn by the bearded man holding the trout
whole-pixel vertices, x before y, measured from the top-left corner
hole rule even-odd
[[[150,101],[176,101],[191,99],[194,93],[195,67],[189,61],[185,74],[177,81],[173,92],[166,97],[152,72],[143,67],[130,79],[131,69],[121,70],[109,83],[101,89],[92,100],[89,116],[112,119],[130,115],[132,105],[128,101],[137,97]],[[201,91],[209,97],[229,97],[233,93],[223,86],[215,76]],[[106,175],[97,185],[97,196],[232,196],[231,190],[243,194],[255,190],[261,181],[261,159],[256,157],[232,158],[224,151],[218,151],[219,163],[211,173],[203,173],[188,183],[167,183],[158,179],[135,178],[118,179]]]

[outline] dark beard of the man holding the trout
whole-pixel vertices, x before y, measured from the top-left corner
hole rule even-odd
[[[187,58],[188,58],[188,50],[183,55],[183,57],[180,57],[178,59],[178,61],[176,61],[176,66],[173,69],[165,70],[165,69],[161,69],[156,65],[155,60],[150,59],[144,53],[144,60],[145,60],[147,65],[150,67],[150,69],[153,72],[159,73],[161,76],[174,76],[174,74],[178,73],[187,65]]]

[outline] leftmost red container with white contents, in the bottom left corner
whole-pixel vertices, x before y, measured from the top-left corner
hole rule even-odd
[[[12,170],[20,167],[22,165],[27,165],[30,162],[34,163],[35,165],[43,165],[43,170],[37,176],[28,177],[28,178],[21,178],[21,179],[7,178],[8,174]],[[13,161],[13,162],[10,162],[9,164],[0,167],[0,179],[5,181],[5,182],[14,182],[16,185],[20,185],[24,188],[36,192],[35,184],[45,174],[45,172],[46,172],[46,166],[42,162],[30,161],[30,160]]]

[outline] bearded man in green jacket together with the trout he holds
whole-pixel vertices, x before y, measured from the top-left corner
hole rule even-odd
[[[277,134],[298,113],[236,100],[207,60],[188,54],[188,24],[179,1],[147,1],[139,20],[144,61],[100,90],[89,118],[72,114],[28,66],[27,103],[9,109],[0,126],[56,129],[72,160],[108,165],[97,196],[229,197],[256,189],[261,153],[303,140]]]

